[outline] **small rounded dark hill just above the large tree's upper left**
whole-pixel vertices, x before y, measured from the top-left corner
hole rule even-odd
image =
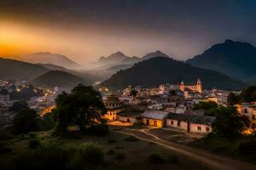
[[[65,71],[48,71],[32,81],[33,85],[43,88],[73,88],[79,83],[88,84],[83,78]]]

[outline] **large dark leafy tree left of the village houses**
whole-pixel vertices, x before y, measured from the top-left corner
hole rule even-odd
[[[55,134],[65,135],[70,123],[79,125],[80,131],[92,124],[100,124],[106,109],[102,96],[92,87],[79,84],[71,94],[62,93],[55,99],[53,111],[56,120]]]

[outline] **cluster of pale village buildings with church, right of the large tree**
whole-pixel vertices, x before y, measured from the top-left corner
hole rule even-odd
[[[215,116],[207,116],[202,109],[194,106],[201,102],[227,105],[229,91],[204,90],[200,79],[195,85],[162,84],[159,88],[131,86],[121,94],[109,94],[108,88],[101,88],[104,104],[108,109],[104,116],[113,126],[148,126],[154,128],[178,129],[187,133],[205,135],[212,132]],[[255,130],[255,103],[236,104],[238,113],[247,116]]]

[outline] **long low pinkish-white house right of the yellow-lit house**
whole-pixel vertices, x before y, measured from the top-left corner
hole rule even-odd
[[[170,113],[166,117],[166,127],[177,127],[191,133],[210,133],[214,120],[214,116]]]

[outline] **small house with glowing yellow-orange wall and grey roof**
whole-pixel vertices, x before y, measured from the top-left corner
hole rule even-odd
[[[144,111],[142,122],[148,126],[165,127],[167,115],[168,112],[166,111]]]

